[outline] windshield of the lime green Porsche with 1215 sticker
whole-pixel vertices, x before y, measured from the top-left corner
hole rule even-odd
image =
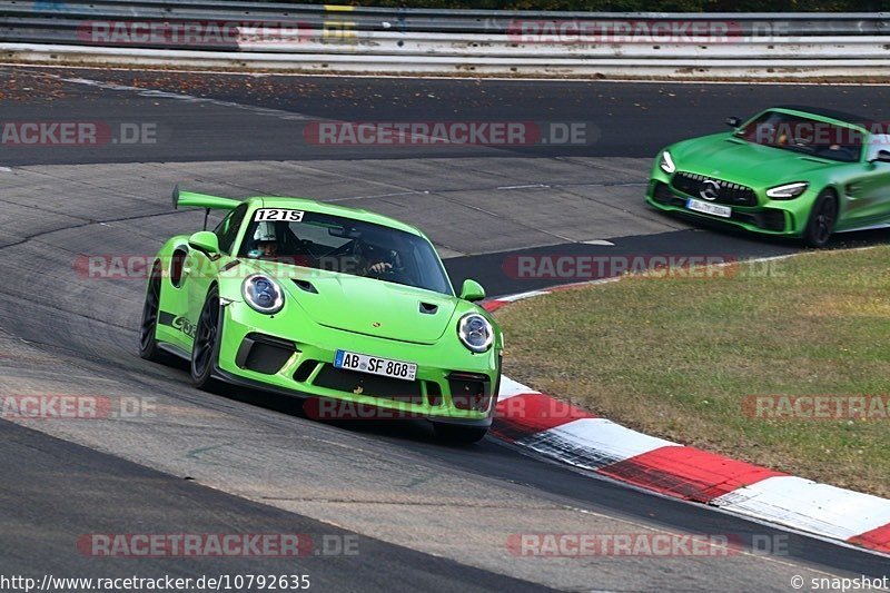
[[[454,294],[429,241],[340,216],[261,208],[254,214],[238,255]]]

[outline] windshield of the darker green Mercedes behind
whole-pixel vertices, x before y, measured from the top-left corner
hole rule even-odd
[[[781,111],[760,115],[735,136],[749,142],[842,162],[859,161],[866,140],[866,134],[859,129]]]

